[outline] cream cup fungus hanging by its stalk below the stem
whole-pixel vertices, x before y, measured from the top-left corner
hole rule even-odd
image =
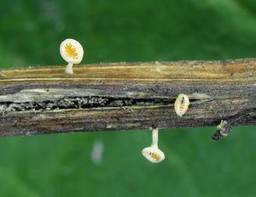
[[[165,154],[158,149],[158,128],[152,130],[152,144],[143,149],[143,156],[152,163],[159,163],[165,159]]]

